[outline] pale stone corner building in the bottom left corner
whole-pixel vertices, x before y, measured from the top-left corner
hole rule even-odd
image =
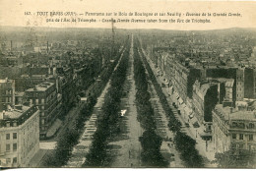
[[[1,112],[0,166],[28,167],[39,149],[39,111],[33,106],[17,106]]]

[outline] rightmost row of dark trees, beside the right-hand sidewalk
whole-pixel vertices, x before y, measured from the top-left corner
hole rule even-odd
[[[139,41],[138,41],[138,44],[140,44]],[[169,107],[166,97],[161,90],[161,86],[158,83],[150,65],[148,64],[147,59],[144,56],[141,47],[139,48],[139,53],[142,56],[142,59],[146,65],[147,71],[149,73],[149,77],[152,83],[155,85],[156,91],[160,97],[160,103],[162,105],[162,108],[169,118],[168,127],[170,131],[175,133],[175,138],[174,138],[174,142],[176,143],[175,146],[176,146],[176,149],[181,154],[181,159],[183,160],[184,165],[186,167],[203,167],[204,166],[203,158],[199,154],[198,150],[195,148],[196,142],[186,134],[180,132],[181,123],[178,119],[175,118],[174,113]]]

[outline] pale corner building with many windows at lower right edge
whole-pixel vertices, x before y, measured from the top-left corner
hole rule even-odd
[[[256,112],[218,104],[213,110],[213,142],[216,152],[256,150]]]

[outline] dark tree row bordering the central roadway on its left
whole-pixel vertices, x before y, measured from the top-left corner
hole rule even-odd
[[[107,165],[107,144],[109,138],[119,132],[120,98],[122,85],[128,68],[129,46],[125,49],[117,69],[113,72],[110,86],[104,96],[102,112],[96,121],[96,133],[90,151],[86,155],[85,167]]]

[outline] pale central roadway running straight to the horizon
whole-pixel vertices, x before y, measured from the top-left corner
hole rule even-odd
[[[142,135],[143,130],[140,123],[137,121],[137,109],[135,105],[135,82],[134,82],[134,67],[133,67],[133,40],[130,50],[129,68],[127,75],[127,84],[129,93],[128,97],[122,99],[123,107],[127,108],[127,112],[123,117],[125,125],[127,127],[127,139],[123,139],[110,144],[119,146],[116,152],[111,167],[141,167],[140,154],[141,154],[141,142],[139,137]]]

